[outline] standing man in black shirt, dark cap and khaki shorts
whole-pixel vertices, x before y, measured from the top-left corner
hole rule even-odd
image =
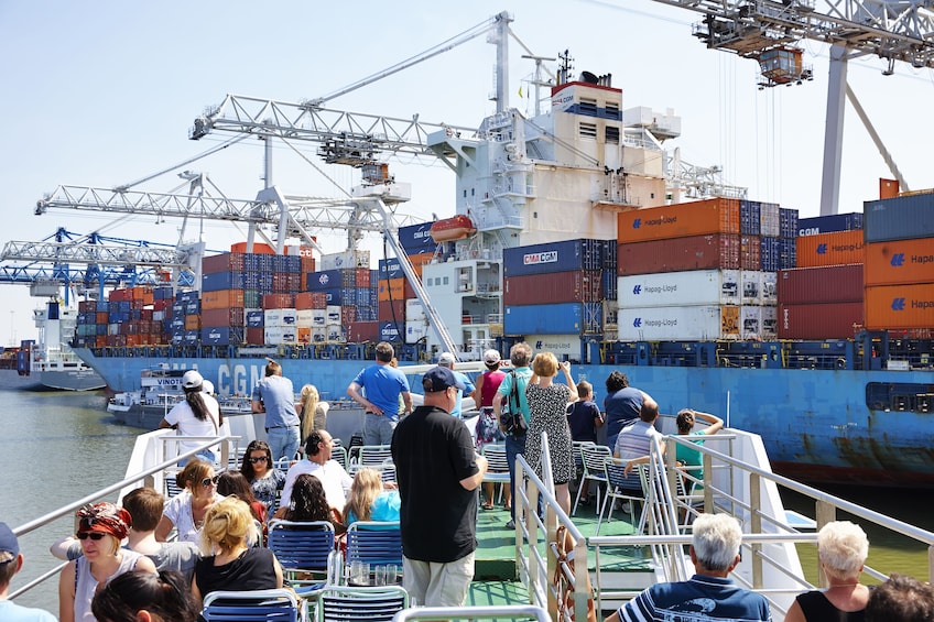
[[[477,487],[487,460],[474,451],[470,432],[450,416],[464,389],[446,368],[422,379],[425,403],[392,435],[402,498],[403,587],[420,604],[461,607],[474,578]]]

